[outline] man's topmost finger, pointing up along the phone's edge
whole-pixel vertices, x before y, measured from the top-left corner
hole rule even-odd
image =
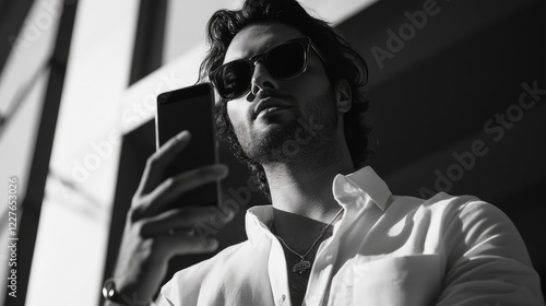
[[[167,165],[180,153],[191,140],[189,131],[181,131],[165,144],[157,152],[147,158],[144,174],[136,193],[146,193],[155,188],[163,179],[162,175]]]

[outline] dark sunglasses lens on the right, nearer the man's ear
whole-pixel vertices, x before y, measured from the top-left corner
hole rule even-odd
[[[288,79],[301,72],[306,61],[304,45],[297,42],[284,44],[270,50],[268,70],[276,79]]]

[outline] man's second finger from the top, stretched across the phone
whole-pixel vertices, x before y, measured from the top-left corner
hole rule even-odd
[[[182,173],[168,178],[157,186],[147,198],[147,207],[143,208],[146,214],[162,211],[166,204],[174,201],[178,196],[189,190],[195,189],[207,183],[213,183],[227,175],[225,165],[210,165]],[[192,203],[180,203],[180,205],[191,205]]]

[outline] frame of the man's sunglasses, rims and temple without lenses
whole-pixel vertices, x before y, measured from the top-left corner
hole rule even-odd
[[[236,59],[236,60],[233,60],[233,61],[229,61],[229,62],[226,62],[224,64],[222,64],[221,67],[214,69],[214,71],[212,71],[210,74],[209,74],[209,81],[212,83],[212,85],[214,86],[216,93],[218,93],[218,95],[225,99],[235,99],[235,98],[238,98],[238,97],[241,97],[244,95],[246,95],[249,91],[250,91],[250,87],[252,85],[252,82],[249,82],[249,84],[247,85],[247,87],[245,89],[245,91],[242,91],[241,94],[238,94],[234,97],[226,97],[224,96],[217,85],[216,85],[216,74],[226,66],[226,64],[233,64],[234,62],[245,62],[246,64],[248,64],[248,67],[250,68],[250,75],[253,75],[254,74],[254,68],[256,68],[256,62],[257,61],[261,61],[263,62],[263,64],[265,66],[265,68],[268,69],[268,71],[271,73],[271,70],[269,69],[268,67],[268,55],[275,48],[280,47],[280,46],[283,46],[283,45],[287,45],[287,44],[292,44],[292,43],[299,43],[302,47],[304,47],[304,64],[301,67],[301,69],[294,73],[294,75],[290,75],[288,78],[277,78],[273,74],[271,74],[273,78],[275,78],[276,80],[280,80],[280,81],[285,81],[285,80],[290,80],[290,79],[294,79],[294,78],[297,78],[299,76],[301,73],[306,72],[307,70],[307,64],[309,62],[309,47],[311,47],[314,52],[317,54],[317,56],[319,56],[319,58],[322,60],[322,62],[324,62],[325,67],[328,68],[328,62],[327,60],[324,59],[324,56],[319,51],[319,49],[314,46],[314,44],[312,43],[311,38],[308,37],[308,36],[304,36],[304,37],[298,37],[298,38],[292,38],[292,39],[287,39],[287,40],[284,40],[284,42],[281,42],[281,43],[277,43],[271,47],[269,47],[262,54],[259,54],[259,55],[254,55],[254,56],[251,56],[249,58],[244,58],[244,59]]]

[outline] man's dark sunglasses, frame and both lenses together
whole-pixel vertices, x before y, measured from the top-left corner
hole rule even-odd
[[[310,48],[327,64],[311,38],[306,36],[278,43],[261,55],[224,63],[209,74],[209,80],[221,97],[234,99],[250,91],[257,61],[261,60],[273,78],[289,80],[306,71]]]

